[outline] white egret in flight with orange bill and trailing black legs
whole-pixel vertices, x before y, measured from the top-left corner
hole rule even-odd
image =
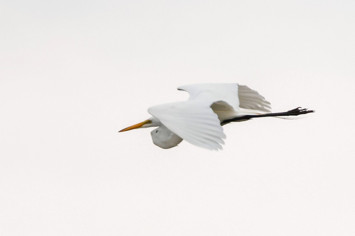
[[[187,101],[165,103],[148,108],[149,119],[119,132],[157,127],[151,132],[153,143],[168,149],[183,139],[211,150],[222,149],[223,125],[266,116],[296,116],[314,112],[296,108],[270,113],[271,104],[257,91],[239,84],[195,84],[178,87],[190,94]],[[260,113],[263,112],[263,113]]]

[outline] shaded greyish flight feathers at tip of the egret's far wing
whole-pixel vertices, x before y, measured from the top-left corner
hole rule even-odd
[[[238,98],[240,108],[271,112],[271,104],[248,86],[239,85]]]

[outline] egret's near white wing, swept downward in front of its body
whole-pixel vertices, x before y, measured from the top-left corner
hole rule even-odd
[[[225,134],[211,104],[204,100],[167,103],[148,108],[148,113],[187,142],[218,150],[222,149]]]

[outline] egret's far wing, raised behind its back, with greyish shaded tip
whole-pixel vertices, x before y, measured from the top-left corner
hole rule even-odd
[[[270,103],[257,91],[238,84],[195,84],[178,87],[190,94],[189,100],[224,101],[234,110],[239,108],[270,112]]]

